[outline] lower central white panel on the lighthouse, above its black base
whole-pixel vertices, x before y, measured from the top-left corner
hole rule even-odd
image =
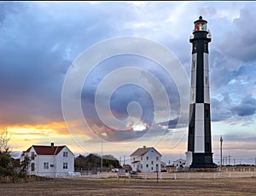
[[[195,103],[195,153],[205,153],[204,103]]]

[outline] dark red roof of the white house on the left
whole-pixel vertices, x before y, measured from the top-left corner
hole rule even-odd
[[[32,146],[36,153],[38,155],[56,155],[58,153],[61,152],[61,150],[63,149],[63,147],[66,147],[66,146],[35,146],[33,145]],[[26,152],[29,152],[31,150],[31,147],[29,147]]]

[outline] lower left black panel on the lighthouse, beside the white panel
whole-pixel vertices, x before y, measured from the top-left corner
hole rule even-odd
[[[195,152],[195,103],[189,105],[188,151]]]

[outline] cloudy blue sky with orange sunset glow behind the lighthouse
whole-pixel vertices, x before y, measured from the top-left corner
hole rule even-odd
[[[201,15],[212,34],[214,162],[222,135],[230,164],[255,164],[255,10],[255,2],[0,2],[0,131],[16,154],[55,142],[75,154],[127,159],[147,146],[166,162],[184,159],[189,37]],[[111,55],[113,43],[122,54]],[[158,46],[171,54],[169,71]]]

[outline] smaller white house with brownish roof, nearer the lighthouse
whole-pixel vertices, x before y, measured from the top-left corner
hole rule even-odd
[[[131,168],[134,171],[154,172],[160,171],[161,154],[154,147],[138,148],[131,153]]]

